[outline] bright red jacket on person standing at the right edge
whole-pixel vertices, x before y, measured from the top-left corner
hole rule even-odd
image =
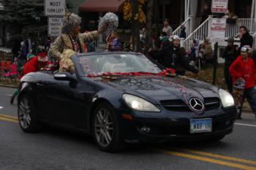
[[[239,55],[236,61],[230,66],[230,75],[235,82],[238,78],[245,80],[245,88],[253,88],[256,84],[256,67],[252,58],[244,61],[242,56]]]

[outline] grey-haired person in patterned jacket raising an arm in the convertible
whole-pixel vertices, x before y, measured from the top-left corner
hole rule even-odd
[[[84,43],[98,39],[99,34],[102,34],[108,27],[108,24],[104,24],[98,31],[80,34],[80,24],[81,18],[78,15],[66,13],[61,28],[62,34],[50,47],[50,58],[60,61],[61,53],[68,49],[76,53],[85,53]]]

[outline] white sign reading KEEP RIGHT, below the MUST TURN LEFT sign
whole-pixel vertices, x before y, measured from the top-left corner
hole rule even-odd
[[[48,18],[48,36],[61,35],[62,18],[49,17]]]

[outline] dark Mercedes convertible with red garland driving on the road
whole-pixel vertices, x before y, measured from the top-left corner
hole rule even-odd
[[[126,142],[217,141],[233,131],[236,107],[225,90],[165,74],[139,53],[78,54],[72,61],[75,74],[35,72],[22,78],[23,131],[50,123],[93,135],[107,152]]]

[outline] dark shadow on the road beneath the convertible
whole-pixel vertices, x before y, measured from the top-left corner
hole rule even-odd
[[[39,133],[39,135],[47,136],[47,138],[59,140],[69,143],[71,146],[79,146],[80,149],[90,150],[95,152],[100,152],[97,149],[97,145],[94,143],[92,136],[88,134],[81,134],[74,131],[64,130],[61,128],[47,127],[44,131]],[[187,148],[187,149],[213,149],[213,148],[225,148],[228,147],[226,142],[189,142],[189,141],[170,141],[161,143],[135,143],[126,144],[123,150],[118,151],[121,155],[148,155],[148,154],[159,154],[155,150],[173,150],[173,148]]]

